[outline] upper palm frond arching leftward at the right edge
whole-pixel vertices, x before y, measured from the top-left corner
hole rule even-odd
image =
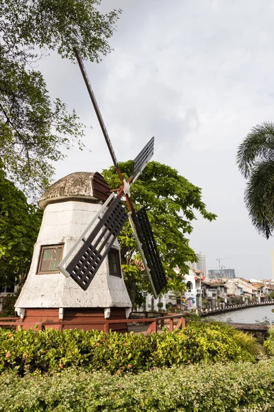
[[[236,163],[245,179],[251,176],[253,166],[263,159],[274,161],[273,122],[263,122],[253,127],[236,155]]]

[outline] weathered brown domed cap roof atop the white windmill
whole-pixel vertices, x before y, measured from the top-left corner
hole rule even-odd
[[[110,196],[110,186],[98,172],[75,172],[53,183],[40,197],[38,206],[45,209],[49,203],[86,201],[98,203]]]

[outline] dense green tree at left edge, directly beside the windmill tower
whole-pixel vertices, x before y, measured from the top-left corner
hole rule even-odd
[[[0,284],[23,284],[32,261],[42,211],[0,169]]]

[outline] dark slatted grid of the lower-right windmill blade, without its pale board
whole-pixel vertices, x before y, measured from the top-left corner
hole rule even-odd
[[[145,207],[142,207],[137,212],[133,211],[132,220],[134,221],[138,238],[142,244],[142,250],[144,251],[147,266],[150,270],[153,286],[159,295],[164,286],[166,286],[167,280]]]

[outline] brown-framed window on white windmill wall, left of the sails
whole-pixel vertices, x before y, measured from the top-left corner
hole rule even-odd
[[[51,246],[42,246],[38,262],[37,274],[43,273],[60,273],[58,264],[60,264],[63,255],[64,244],[53,244]]]

